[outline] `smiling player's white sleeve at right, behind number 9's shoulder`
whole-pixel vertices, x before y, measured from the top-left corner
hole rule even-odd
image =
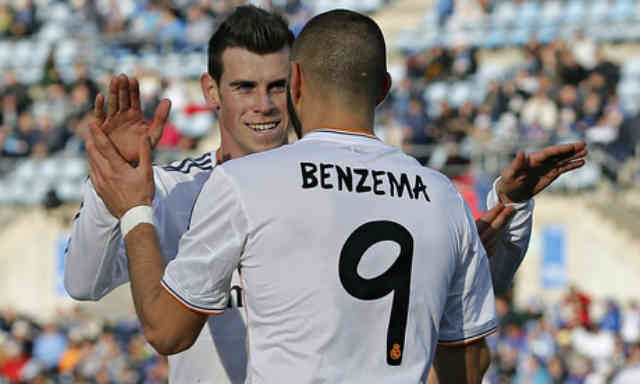
[[[499,180],[500,178],[494,181],[493,188],[487,196],[488,209],[495,207],[500,202],[496,190]],[[533,199],[514,205],[515,213],[507,222],[498,246],[489,260],[493,289],[496,294],[504,293],[509,289],[513,277],[527,253],[533,226],[534,205]]]

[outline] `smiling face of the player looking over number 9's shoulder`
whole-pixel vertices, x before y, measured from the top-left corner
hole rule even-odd
[[[224,155],[235,158],[285,144],[289,48],[265,55],[227,48],[222,65],[220,82],[209,76],[203,87],[218,110]]]

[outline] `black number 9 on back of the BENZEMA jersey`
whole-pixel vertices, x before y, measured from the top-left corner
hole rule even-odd
[[[400,255],[380,276],[365,279],[358,275],[358,264],[372,245],[381,241],[394,241],[400,245]],[[393,292],[391,318],[387,330],[387,364],[400,365],[404,350],[404,337],[409,312],[411,260],[413,237],[398,223],[371,221],[356,229],[340,252],[338,273],[344,289],[362,300],[376,300]]]

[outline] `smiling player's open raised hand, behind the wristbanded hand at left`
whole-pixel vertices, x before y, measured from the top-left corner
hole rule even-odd
[[[95,100],[96,125],[109,137],[122,157],[130,162],[138,161],[140,137],[151,137],[155,147],[162,136],[162,129],[169,116],[171,102],[164,99],[158,105],[151,122],[145,121],[140,106],[140,87],[136,78],[122,74],[111,79],[107,112],[104,111],[104,96]]]

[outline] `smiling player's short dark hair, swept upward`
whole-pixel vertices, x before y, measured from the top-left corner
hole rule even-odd
[[[209,74],[220,82],[224,71],[222,53],[227,48],[246,48],[265,55],[291,47],[294,39],[282,16],[253,5],[237,7],[209,39]]]

